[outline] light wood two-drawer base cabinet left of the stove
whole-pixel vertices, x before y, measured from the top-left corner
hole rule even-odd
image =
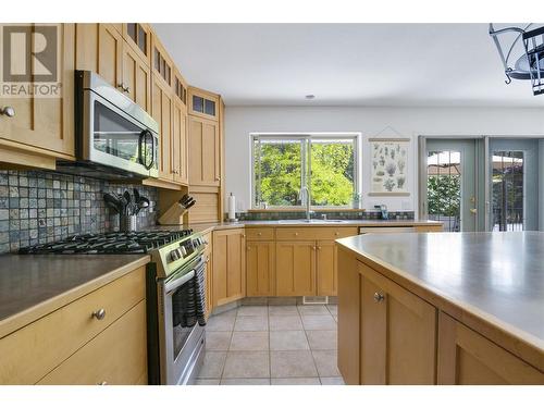
[[[0,384],[147,384],[145,273],[140,267],[0,338]]]

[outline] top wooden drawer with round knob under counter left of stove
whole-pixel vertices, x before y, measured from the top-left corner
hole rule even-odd
[[[0,339],[0,384],[34,384],[145,298],[145,267]],[[104,309],[102,320],[92,312]]]

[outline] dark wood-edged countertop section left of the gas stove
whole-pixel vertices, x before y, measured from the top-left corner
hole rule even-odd
[[[147,255],[0,256],[0,337],[149,262]],[[28,313],[27,313],[28,312]]]

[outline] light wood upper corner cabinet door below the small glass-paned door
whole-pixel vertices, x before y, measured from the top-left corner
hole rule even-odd
[[[221,181],[219,124],[189,115],[189,184],[219,186]]]

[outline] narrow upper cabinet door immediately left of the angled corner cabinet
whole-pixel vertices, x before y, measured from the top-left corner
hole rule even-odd
[[[187,108],[174,99],[172,116],[172,171],[174,182],[188,183]]]

